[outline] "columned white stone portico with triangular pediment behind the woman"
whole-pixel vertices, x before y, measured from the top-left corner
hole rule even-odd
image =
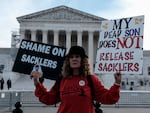
[[[95,63],[100,25],[104,18],[67,6],[43,10],[17,18],[21,39],[64,46],[80,45]]]

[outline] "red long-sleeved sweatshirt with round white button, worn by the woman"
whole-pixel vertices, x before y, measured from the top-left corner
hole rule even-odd
[[[120,88],[113,85],[109,90],[104,88],[97,76],[91,77],[94,87],[94,99],[102,104],[115,104],[120,97]],[[58,97],[56,90],[50,91],[38,84],[35,95],[42,103],[52,105]],[[62,79],[60,83],[60,107],[58,113],[95,113],[92,103],[91,89],[86,77],[73,76]]]

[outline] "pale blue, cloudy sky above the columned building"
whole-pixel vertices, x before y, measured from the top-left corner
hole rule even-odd
[[[149,0],[1,0],[0,2],[0,48],[11,46],[11,32],[19,29],[16,17],[65,5],[107,19],[144,15],[144,50],[150,50]]]

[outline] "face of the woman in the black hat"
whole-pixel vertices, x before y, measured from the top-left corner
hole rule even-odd
[[[81,57],[80,55],[70,55],[69,63],[71,68],[80,68],[81,66]]]

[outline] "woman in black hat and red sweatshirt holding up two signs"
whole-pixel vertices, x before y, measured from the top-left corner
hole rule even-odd
[[[102,104],[115,104],[120,97],[121,74],[115,73],[114,85],[106,89],[99,78],[92,74],[88,56],[80,46],[72,46],[65,57],[59,89],[56,82],[47,91],[39,82],[39,72],[34,71],[31,76],[36,86],[35,95],[42,103],[52,105],[60,102],[57,113],[95,113],[93,100]],[[87,76],[91,76],[93,81],[93,96]]]

